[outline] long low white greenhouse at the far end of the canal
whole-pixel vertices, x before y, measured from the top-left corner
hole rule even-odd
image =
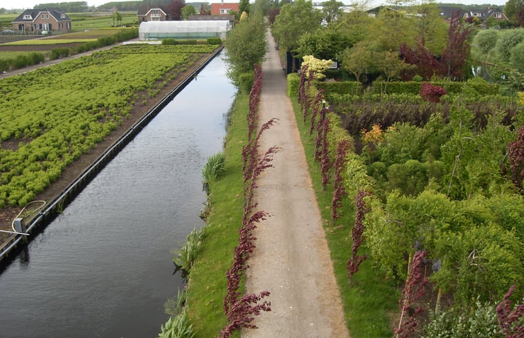
[[[227,20],[199,21],[144,21],[138,28],[138,37],[150,39],[207,39],[208,37],[226,38],[231,30]]]

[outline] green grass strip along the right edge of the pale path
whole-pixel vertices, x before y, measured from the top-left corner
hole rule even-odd
[[[350,336],[352,338],[391,337],[393,332],[390,318],[395,319],[399,311],[399,289],[379,271],[378,267],[374,266],[369,250],[364,247],[361,247],[359,254],[367,254],[368,259],[360,265],[359,272],[356,272],[353,277],[353,285],[350,285],[345,265],[347,259],[351,256],[351,227],[354,224],[354,207],[349,207],[349,205],[353,205],[353,203],[345,200],[343,216],[332,224],[333,178],[331,185],[323,190],[320,164],[313,159],[315,133],[311,135],[311,138],[309,137],[309,116],[304,124],[296,98],[293,98],[292,102],[318,207],[323,218]]]

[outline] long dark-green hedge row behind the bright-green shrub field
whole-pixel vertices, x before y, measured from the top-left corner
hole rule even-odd
[[[138,37],[138,28],[132,28],[127,30],[121,30],[110,37],[100,37],[96,41],[87,41],[82,44],[78,44],[75,47],[62,47],[51,50],[51,54],[48,55],[48,59],[60,59],[61,57],[68,57],[69,55],[75,55],[78,53],[84,53],[89,50],[101,48],[105,46],[111,46],[117,42],[127,41]],[[35,64],[42,64],[46,61],[46,55],[40,52],[28,53],[27,55],[17,55],[16,57],[0,59],[0,72],[14,71],[15,69],[21,69]]]

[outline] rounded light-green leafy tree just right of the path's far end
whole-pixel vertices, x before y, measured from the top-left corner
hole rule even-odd
[[[322,12],[313,8],[311,0],[296,0],[280,8],[273,24],[273,34],[282,50],[292,51],[298,47],[298,39],[305,32],[320,28]]]

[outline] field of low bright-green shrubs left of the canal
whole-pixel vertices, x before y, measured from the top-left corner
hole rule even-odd
[[[33,200],[216,47],[118,46],[2,79],[0,207]]]

